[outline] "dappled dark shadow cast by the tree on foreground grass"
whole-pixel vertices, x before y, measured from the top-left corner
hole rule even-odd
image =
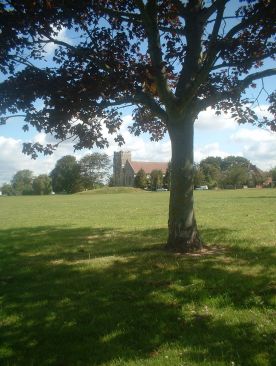
[[[212,235],[225,243],[231,231],[203,231]],[[272,365],[275,332],[233,317],[272,306],[271,288],[264,291],[272,250],[174,255],[161,249],[165,236],[164,229],[1,231],[0,363]],[[243,269],[255,265],[257,272]],[[162,361],[166,346],[183,350],[175,363]]]

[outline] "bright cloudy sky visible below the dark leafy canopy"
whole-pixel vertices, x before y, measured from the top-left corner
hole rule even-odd
[[[65,29],[59,33],[59,39],[69,41]],[[54,50],[52,44],[47,45],[48,53]],[[265,88],[268,92],[275,89],[276,77],[265,79]],[[258,94],[260,83],[256,89],[248,91],[249,96]],[[257,113],[267,113],[266,93],[259,98],[260,105],[256,105]],[[168,161],[170,159],[170,141],[168,136],[160,142],[151,142],[147,135],[136,137],[130,135],[127,126],[131,123],[131,111],[127,109],[124,115],[122,134],[126,144],[119,148],[112,137],[108,137],[110,146],[103,152],[113,156],[114,151],[130,150],[133,160],[143,161]],[[0,126],[0,186],[9,182],[16,171],[30,169],[35,175],[49,173],[56,161],[64,155],[72,154],[77,158],[87,154],[88,151],[78,151],[76,154],[72,148],[72,142],[68,141],[60,145],[58,150],[51,156],[39,157],[36,160],[23,155],[23,141],[38,141],[47,143],[53,141],[51,136],[38,133],[30,129],[28,133],[22,131],[22,121],[17,119],[8,120],[7,125]],[[276,166],[276,134],[268,130],[254,128],[250,125],[239,126],[228,115],[216,116],[214,111],[208,109],[199,115],[195,124],[195,161],[199,162],[207,156],[240,155],[249,159],[263,170],[269,170]],[[92,150],[92,152],[95,150]]]

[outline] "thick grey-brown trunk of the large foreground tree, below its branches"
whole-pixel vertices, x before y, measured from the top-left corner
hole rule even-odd
[[[192,252],[202,247],[193,200],[194,120],[173,121],[169,134],[172,146],[169,237],[167,249]]]

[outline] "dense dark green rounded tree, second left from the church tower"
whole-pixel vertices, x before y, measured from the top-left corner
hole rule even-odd
[[[59,159],[50,177],[56,193],[75,193],[82,190],[80,167],[74,156],[66,155]]]

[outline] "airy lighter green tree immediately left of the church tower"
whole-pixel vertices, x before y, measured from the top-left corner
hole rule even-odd
[[[108,180],[110,159],[107,154],[88,154],[79,161],[79,167],[83,188],[94,189]]]

